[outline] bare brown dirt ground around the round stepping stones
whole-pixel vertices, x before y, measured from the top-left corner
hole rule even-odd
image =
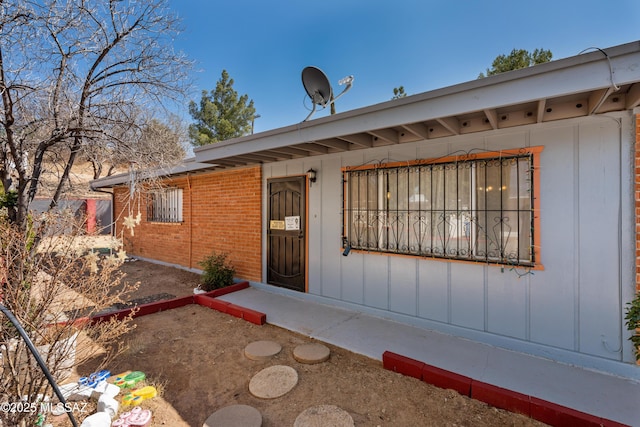
[[[157,294],[189,295],[199,275],[143,261],[125,263],[127,279],[140,282],[132,298]],[[213,412],[228,405],[258,409],[264,427],[292,426],[296,417],[315,405],[337,405],[356,426],[542,426],[527,417],[495,409],[413,378],[383,369],[382,363],[331,345],[328,361],[298,363],[293,349],[311,339],[272,326],[257,326],[198,305],[138,317],[125,337],[129,349],[106,368],[112,373],[139,370],[159,396],[144,401],[153,412],[153,426],[202,426]],[[244,356],[251,342],[271,340],[282,351],[271,360]],[[293,367],[298,384],[276,399],[249,392],[249,381],[273,365]],[[87,364],[80,374],[102,368]],[[78,419],[84,415],[76,414]],[[70,425],[66,418],[48,420]]]

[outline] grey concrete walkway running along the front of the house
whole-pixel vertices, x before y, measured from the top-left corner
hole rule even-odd
[[[219,297],[267,322],[382,360],[385,351],[608,420],[640,426],[640,382],[251,287]],[[640,369],[640,368],[638,368]]]

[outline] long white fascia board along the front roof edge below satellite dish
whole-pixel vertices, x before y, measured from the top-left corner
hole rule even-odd
[[[640,42],[436,89],[194,150],[198,162],[640,82]],[[611,68],[610,68],[611,67]]]

